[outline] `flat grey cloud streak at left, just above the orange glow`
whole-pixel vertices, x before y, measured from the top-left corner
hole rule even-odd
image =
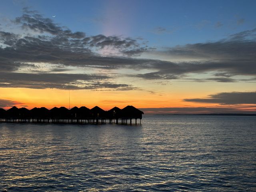
[[[0,72],[0,87],[34,89],[133,90],[130,84],[111,82],[108,76],[96,74],[28,74]]]

